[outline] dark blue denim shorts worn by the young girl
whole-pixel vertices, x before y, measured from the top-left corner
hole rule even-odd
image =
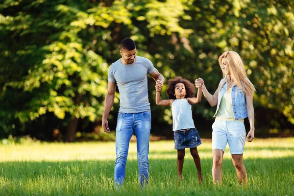
[[[196,128],[186,131],[173,131],[174,149],[194,148],[202,144]]]

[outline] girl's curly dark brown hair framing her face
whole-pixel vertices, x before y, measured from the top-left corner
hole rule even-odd
[[[182,78],[181,76],[175,76],[173,79],[168,80],[167,94],[169,99],[176,99],[174,96],[174,89],[177,83],[183,83],[185,85],[186,93],[185,98],[195,98],[196,87],[189,80]]]

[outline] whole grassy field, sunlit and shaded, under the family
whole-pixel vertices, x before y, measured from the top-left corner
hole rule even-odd
[[[113,142],[0,145],[0,195],[294,196],[294,138],[246,142],[247,188],[238,184],[229,148],[223,160],[223,184],[213,185],[209,141],[198,147],[203,183],[197,184],[188,149],[184,180],[178,183],[173,147],[173,141],[150,142],[149,185],[140,190],[136,143],[131,143],[124,187],[116,190]]]

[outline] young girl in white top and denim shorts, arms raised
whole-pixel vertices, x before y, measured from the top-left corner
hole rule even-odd
[[[198,131],[192,119],[192,104],[201,101],[202,91],[199,88],[195,98],[195,86],[190,81],[177,76],[168,80],[167,94],[169,99],[162,100],[160,97],[161,83],[156,82],[156,104],[170,105],[172,107],[172,130],[174,137],[174,149],[177,150],[177,171],[178,177],[183,178],[183,164],[185,148],[190,148],[194,163],[198,172],[198,182],[203,180],[201,173],[200,157],[197,146],[201,144]]]

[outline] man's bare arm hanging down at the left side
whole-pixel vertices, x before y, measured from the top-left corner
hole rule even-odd
[[[107,93],[104,99],[104,110],[103,110],[103,116],[102,116],[102,127],[104,132],[106,133],[110,132],[110,129],[108,127],[107,117],[113,106],[115,89],[116,89],[116,82],[108,81]]]

